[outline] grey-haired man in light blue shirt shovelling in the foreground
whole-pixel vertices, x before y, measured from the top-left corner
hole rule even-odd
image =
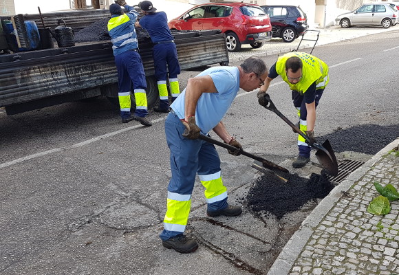
[[[222,182],[220,159],[213,144],[197,139],[213,130],[224,142],[237,147],[228,151],[239,155],[239,142],[222,123],[239,89],[252,91],[263,85],[268,76],[266,64],[250,57],[239,67],[211,67],[188,79],[187,87],[171,104],[165,121],[166,142],[171,151],[171,181],[168,186],[162,245],[180,253],[194,252],[195,240],[184,236],[191,207],[195,176],[206,188],[210,217],[238,216],[239,206],[227,203],[227,191]]]

